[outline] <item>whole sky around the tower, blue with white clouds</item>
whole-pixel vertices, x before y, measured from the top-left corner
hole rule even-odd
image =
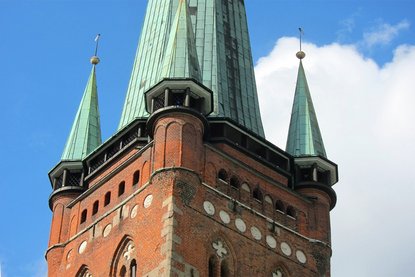
[[[410,77],[402,82],[397,80],[409,72],[413,74],[415,68],[415,62],[412,63],[415,50],[411,48],[415,45],[415,1],[245,2],[262,99],[272,99],[275,103],[292,101],[298,66],[294,57],[298,50],[297,30],[300,26],[305,30],[304,50],[309,59],[307,57],[304,64],[309,85],[326,150],[340,166],[341,181],[335,187],[339,203],[332,213],[333,276],[352,273],[353,276],[392,276],[388,272],[401,274],[395,276],[414,275],[408,257],[414,257],[415,246],[404,240],[411,238],[407,232],[415,229],[410,223],[413,216],[409,212],[404,216],[406,210],[415,208],[407,206],[412,201],[406,198],[414,191],[408,178],[402,177],[411,169],[396,166],[402,166],[404,161],[410,163],[405,157],[413,154],[413,148],[407,143],[415,138],[413,123],[408,120],[414,118],[414,113],[405,106],[414,100],[413,90],[412,94],[399,94],[382,89],[390,87],[393,92],[393,89],[396,92],[411,89],[406,81]],[[51,219],[47,172],[59,161],[82,97],[91,68],[89,58],[94,50],[95,35],[102,34],[99,49],[102,62],[97,69],[97,79],[103,138],[106,139],[117,128],[145,6],[144,0],[0,0],[1,277],[45,276],[44,252]],[[330,65],[330,68],[323,65]],[[342,70],[346,66],[351,70]],[[361,71],[360,80],[351,81],[353,71]],[[267,74],[271,73],[276,74],[273,80],[282,78],[278,79],[281,82],[275,85],[267,82]],[[322,94],[333,88],[325,87],[324,84],[329,83],[326,81],[336,78],[338,87],[349,85],[354,91],[365,89],[359,94],[335,95],[334,86],[332,94]],[[274,93],[270,87],[280,91]],[[338,102],[338,99],[343,101]],[[268,139],[284,148],[291,104],[284,106],[288,108],[281,107],[281,123],[273,127],[267,122],[269,118],[275,121],[279,114],[267,107],[266,101],[260,102]],[[337,116],[336,112],[344,117]],[[331,120],[333,118],[337,121]],[[340,120],[344,121],[340,123]],[[336,137],[336,132],[330,130],[336,130],[339,124],[344,124],[342,130],[350,124],[347,130],[353,134]],[[385,157],[380,154],[385,146],[402,147],[402,151],[386,151]],[[384,164],[381,160],[394,163]],[[401,177],[370,167],[373,164],[384,165],[383,168],[399,172]],[[369,173],[362,168],[373,171]],[[399,195],[395,195],[396,190],[391,187],[392,184],[396,187],[397,183]],[[366,204],[357,203],[358,200]],[[383,220],[385,226],[371,229],[378,225],[370,219],[380,221],[383,216],[379,210],[390,212],[398,207],[400,213],[388,214],[387,220]],[[365,214],[365,211],[370,213]],[[399,233],[393,243],[384,242],[390,232],[396,231],[386,227],[389,220],[393,226],[399,226],[399,230],[407,230]],[[353,244],[349,241],[353,237],[360,237],[360,240]],[[379,239],[377,244],[374,238]],[[380,241],[385,247],[378,249]],[[368,251],[363,256],[366,252],[361,248],[377,253]],[[388,252],[399,252],[402,257]],[[400,262],[391,262],[391,259]],[[352,261],[356,271],[348,272]],[[376,269],[383,267],[386,261],[390,271]]]

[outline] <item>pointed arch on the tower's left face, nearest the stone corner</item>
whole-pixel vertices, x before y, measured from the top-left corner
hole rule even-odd
[[[124,236],[115,250],[111,262],[110,276],[137,276],[137,274],[131,275],[132,270],[134,270],[134,273],[137,272],[136,246],[130,236]]]

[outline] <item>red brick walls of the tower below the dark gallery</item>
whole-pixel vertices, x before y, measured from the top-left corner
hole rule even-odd
[[[330,276],[328,195],[293,191],[277,171],[205,141],[204,131],[190,114],[163,115],[146,147],[131,148],[89,177],[82,195],[53,198],[49,276],[122,276],[123,268],[130,276],[134,263],[137,276],[148,277],[209,276],[209,270]],[[218,177],[221,169],[226,178]]]

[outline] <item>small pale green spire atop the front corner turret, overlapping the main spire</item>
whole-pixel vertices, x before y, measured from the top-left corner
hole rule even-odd
[[[193,78],[201,82],[195,35],[186,0],[179,0],[161,66],[160,79]]]

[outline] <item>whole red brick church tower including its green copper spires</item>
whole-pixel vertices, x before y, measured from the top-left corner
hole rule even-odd
[[[330,276],[337,165],[302,61],[286,151],[263,138],[242,0],[149,0],[104,143],[91,62],[49,173],[49,276]]]

